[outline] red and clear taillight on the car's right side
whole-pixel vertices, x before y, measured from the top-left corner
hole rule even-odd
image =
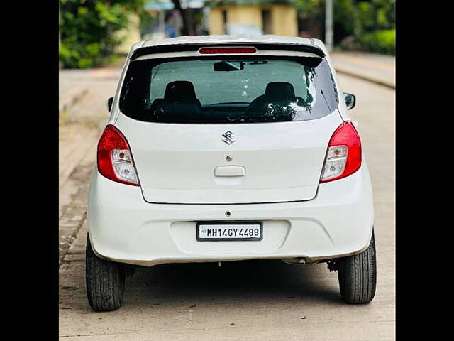
[[[321,183],[345,178],[361,167],[361,141],[358,131],[350,121],[345,121],[334,131],[328,144]]]

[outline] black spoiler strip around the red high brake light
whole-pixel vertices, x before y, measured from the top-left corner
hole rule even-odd
[[[136,49],[131,55],[131,60],[140,57],[141,55],[150,55],[153,53],[165,53],[165,52],[183,52],[183,51],[198,51],[199,48],[209,48],[211,46],[223,47],[223,46],[253,46],[258,50],[285,50],[285,51],[301,51],[309,52],[319,55],[319,57],[325,57],[325,53],[321,48],[316,45],[303,45],[303,44],[292,44],[292,43],[189,43],[189,44],[167,44],[167,45],[155,45],[146,46],[145,48]]]

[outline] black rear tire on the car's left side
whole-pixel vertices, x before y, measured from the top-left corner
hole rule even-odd
[[[88,302],[94,311],[111,311],[121,307],[125,293],[125,266],[96,256],[88,235],[85,282]]]

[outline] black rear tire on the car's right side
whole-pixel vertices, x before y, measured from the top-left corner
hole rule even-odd
[[[360,254],[338,259],[338,278],[345,303],[369,303],[377,286],[375,237],[372,231],[369,247]]]

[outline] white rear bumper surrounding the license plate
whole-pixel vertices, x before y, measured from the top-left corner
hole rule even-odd
[[[225,212],[231,216],[226,217]],[[196,221],[260,220],[260,242],[197,242]],[[104,259],[164,263],[304,258],[356,254],[367,248],[374,220],[367,164],[319,185],[313,200],[238,205],[151,204],[140,188],[114,183],[95,170],[88,200],[89,235]]]

